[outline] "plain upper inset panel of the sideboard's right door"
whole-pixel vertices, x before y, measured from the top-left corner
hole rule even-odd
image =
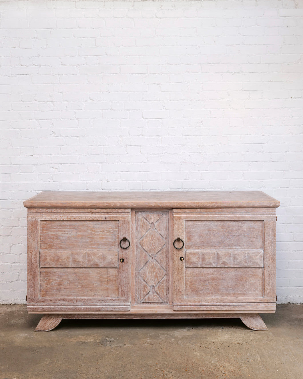
[[[185,249],[263,249],[263,221],[185,220]]]

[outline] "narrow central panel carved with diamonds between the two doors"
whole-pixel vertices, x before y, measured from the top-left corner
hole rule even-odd
[[[136,211],[136,304],[167,304],[168,212]]]

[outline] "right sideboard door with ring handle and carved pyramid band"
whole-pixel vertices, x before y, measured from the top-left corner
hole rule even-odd
[[[175,210],[173,227],[175,310],[275,309],[275,216]]]

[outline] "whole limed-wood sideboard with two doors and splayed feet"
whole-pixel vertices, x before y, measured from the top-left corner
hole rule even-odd
[[[55,192],[28,208],[28,313],[241,318],[276,309],[276,212],[261,191]]]

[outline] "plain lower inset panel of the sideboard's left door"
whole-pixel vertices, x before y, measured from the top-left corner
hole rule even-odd
[[[114,268],[41,268],[43,298],[117,298],[118,270]]]

